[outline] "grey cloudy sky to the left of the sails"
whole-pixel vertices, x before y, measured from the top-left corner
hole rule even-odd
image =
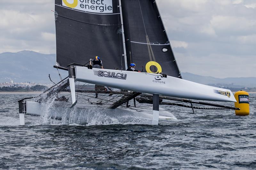
[[[56,53],[54,1],[0,1],[0,52],[35,50]],[[51,43],[49,43],[49,41]]]

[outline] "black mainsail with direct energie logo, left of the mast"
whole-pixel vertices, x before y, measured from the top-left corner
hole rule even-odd
[[[125,69],[118,0],[55,0],[57,66],[99,56],[106,69]]]

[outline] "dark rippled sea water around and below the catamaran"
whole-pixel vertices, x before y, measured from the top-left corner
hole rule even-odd
[[[18,126],[17,101],[31,96],[0,94],[1,169],[256,168],[255,94],[249,116],[233,110],[192,114],[173,106],[168,109],[177,120],[160,120],[157,126],[116,124],[122,122],[111,117],[111,125],[102,125],[100,115],[93,120],[99,125],[85,126],[49,119],[45,108],[46,115],[26,115],[25,126]]]

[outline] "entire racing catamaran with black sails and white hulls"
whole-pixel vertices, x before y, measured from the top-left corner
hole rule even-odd
[[[228,89],[182,79],[156,0],[55,0],[54,16],[54,67],[67,70],[68,77],[60,76],[59,83],[40,95],[19,101],[21,125],[24,114],[42,115],[50,104],[54,118],[70,118],[76,112],[86,121],[93,108],[115,116],[146,117],[150,121],[145,124],[152,125],[171,118],[162,112],[166,106],[193,112],[239,109],[198,101],[236,99]],[[95,56],[104,69],[88,64]],[[126,71],[130,63],[140,72]]]

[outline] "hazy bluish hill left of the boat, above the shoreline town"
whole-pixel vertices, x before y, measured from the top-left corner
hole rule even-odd
[[[36,82],[47,83],[48,74],[54,81],[60,81],[58,72],[53,65],[56,63],[55,54],[41,54],[34,51],[5,52],[0,54],[0,82]],[[62,71],[62,73],[65,71]],[[63,74],[63,78],[68,73]]]

